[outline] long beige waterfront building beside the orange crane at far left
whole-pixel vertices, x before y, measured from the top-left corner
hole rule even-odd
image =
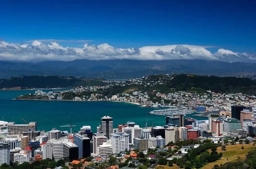
[[[23,134],[26,131],[36,131],[37,123],[29,122],[29,124],[16,124],[15,122],[9,122],[7,124],[8,135]]]

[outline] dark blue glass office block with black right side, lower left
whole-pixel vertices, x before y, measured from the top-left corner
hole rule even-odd
[[[84,132],[78,132],[73,135],[74,136],[74,144],[78,146],[78,157],[84,158],[90,156],[90,138]]]

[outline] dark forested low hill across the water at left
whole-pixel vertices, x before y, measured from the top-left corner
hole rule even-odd
[[[72,88],[78,86],[106,86],[105,79],[86,79],[72,76],[23,76],[0,79],[0,89]]]

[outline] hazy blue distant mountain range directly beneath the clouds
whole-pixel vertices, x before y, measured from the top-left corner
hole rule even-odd
[[[105,79],[140,78],[152,74],[197,74],[236,76],[254,74],[256,63],[206,60],[74,60],[39,63],[0,61],[0,78],[30,75],[59,75]]]

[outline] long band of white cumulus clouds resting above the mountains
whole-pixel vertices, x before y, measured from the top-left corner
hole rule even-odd
[[[117,48],[106,43],[100,45],[86,43],[83,47],[77,48],[64,47],[56,41],[45,43],[42,40],[35,40],[24,44],[0,41],[0,60],[40,62],[45,60],[72,61],[74,59],[206,59],[225,62],[256,62],[256,54],[238,53],[226,49],[219,49],[212,54],[207,50],[210,47],[214,46],[165,45]]]

